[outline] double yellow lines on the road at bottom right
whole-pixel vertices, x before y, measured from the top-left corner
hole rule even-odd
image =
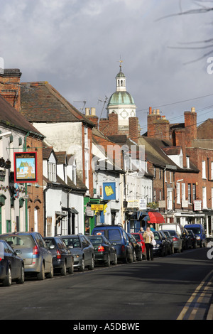
[[[203,299],[206,298],[206,303],[207,301],[208,302],[210,301],[212,297],[212,282],[207,281],[207,280],[212,279],[212,274],[213,274],[213,270],[210,271],[209,274],[207,274],[207,276],[204,278],[204,281],[202,281],[199,284],[199,286],[197,286],[195,291],[192,293],[192,296],[190,296],[187,303],[185,304],[184,308],[182,308],[182,311],[180,312],[177,320],[183,320],[183,318],[186,316],[187,311],[190,312],[190,315],[188,316],[187,319],[194,320],[197,314],[197,311],[200,310],[200,306],[201,306]],[[195,301],[196,298],[197,298],[197,301]],[[204,315],[203,309],[202,309],[202,313]]]

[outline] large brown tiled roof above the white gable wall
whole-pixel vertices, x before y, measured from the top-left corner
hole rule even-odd
[[[29,122],[85,122],[94,126],[48,82],[21,82],[21,113]]]

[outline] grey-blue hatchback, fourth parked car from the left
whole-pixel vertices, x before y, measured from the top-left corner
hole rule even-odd
[[[74,269],[84,271],[94,269],[94,247],[85,235],[62,235],[60,238],[72,252],[74,257]]]

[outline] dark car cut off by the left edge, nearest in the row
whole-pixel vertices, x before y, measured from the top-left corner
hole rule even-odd
[[[4,286],[11,286],[12,281],[24,282],[23,259],[4,240],[0,240],[0,281]]]

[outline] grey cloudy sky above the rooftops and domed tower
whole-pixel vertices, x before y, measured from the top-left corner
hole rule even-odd
[[[170,16],[198,8],[192,0],[0,0],[0,57],[21,70],[22,82],[48,81],[77,109],[86,101],[102,117],[99,100],[116,90],[121,59],[141,134],[148,107],[170,123],[195,107],[199,125],[213,117],[213,51],[187,47],[207,45],[192,42],[212,38],[213,14]]]

